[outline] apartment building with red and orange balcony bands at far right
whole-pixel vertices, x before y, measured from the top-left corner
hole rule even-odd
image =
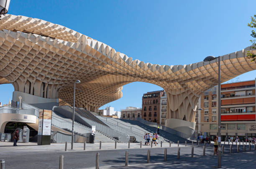
[[[255,80],[221,85],[221,139],[228,136],[240,139],[256,136]],[[200,97],[201,133],[213,137],[217,134],[217,95],[210,89]]]

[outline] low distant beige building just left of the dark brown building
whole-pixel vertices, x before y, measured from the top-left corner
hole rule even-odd
[[[122,119],[135,120],[137,117],[141,117],[141,108],[139,107],[126,107],[126,109],[121,110]]]

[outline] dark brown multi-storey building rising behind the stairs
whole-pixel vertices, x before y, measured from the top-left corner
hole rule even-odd
[[[147,92],[142,97],[142,119],[150,122],[160,122],[160,99],[164,90]]]

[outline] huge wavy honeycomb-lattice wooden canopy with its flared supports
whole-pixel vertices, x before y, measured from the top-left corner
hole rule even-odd
[[[221,82],[251,70],[251,47],[220,56]],[[194,127],[200,94],[218,84],[218,60],[189,65],[157,65],[133,60],[112,47],[67,27],[44,20],[6,15],[0,20],[0,84],[14,86],[13,101],[57,102],[96,112],[123,96],[131,82],[163,87],[167,95],[167,127]]]

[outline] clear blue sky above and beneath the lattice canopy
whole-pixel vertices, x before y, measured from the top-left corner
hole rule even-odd
[[[253,0],[11,0],[8,13],[64,25],[133,59],[184,65],[251,45],[247,23],[256,14],[253,5]],[[160,89],[134,82],[123,87],[123,98],[107,105],[141,107],[143,93]],[[1,85],[0,102],[7,103],[12,92],[12,85]]]

